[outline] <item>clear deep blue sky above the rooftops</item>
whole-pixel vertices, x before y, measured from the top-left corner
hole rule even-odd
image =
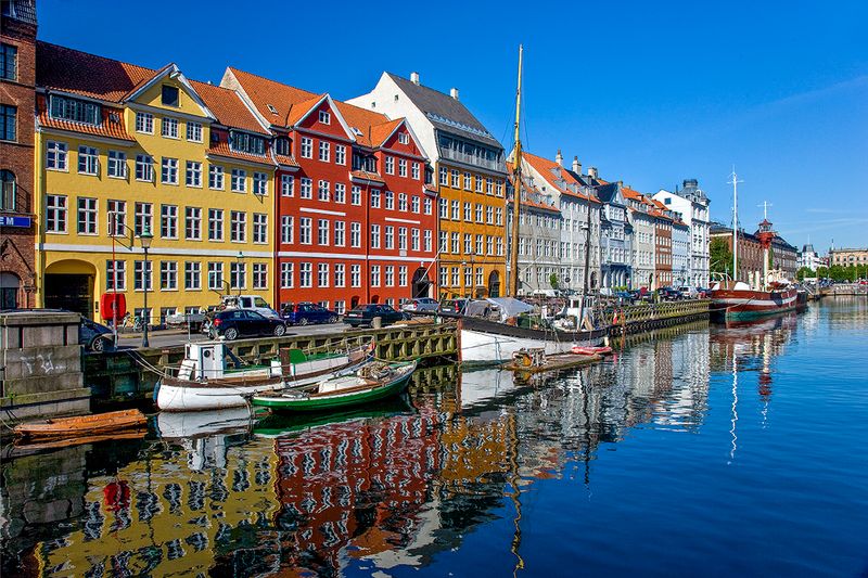
[[[461,100],[523,144],[642,191],[698,178],[712,217],[769,218],[794,245],[868,246],[868,2],[40,0],[41,39],[201,80],[227,65],[348,99],[383,70]],[[87,7],[87,9],[85,9]]]

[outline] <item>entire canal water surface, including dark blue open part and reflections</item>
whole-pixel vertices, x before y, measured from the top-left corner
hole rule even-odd
[[[868,301],[617,344],[537,380],[5,449],[3,576],[866,576]]]

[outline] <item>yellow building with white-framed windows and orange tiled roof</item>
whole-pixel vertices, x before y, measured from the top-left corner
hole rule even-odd
[[[111,319],[104,294],[142,314],[146,293],[159,323],[228,292],[272,300],[276,163],[238,95],[175,64],[44,42],[36,60],[39,305]]]

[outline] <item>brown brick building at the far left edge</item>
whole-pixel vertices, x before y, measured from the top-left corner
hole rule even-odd
[[[36,306],[34,119],[36,8],[4,1],[0,15],[0,309]]]

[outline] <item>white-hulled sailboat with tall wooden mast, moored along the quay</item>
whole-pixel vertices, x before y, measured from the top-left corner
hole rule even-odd
[[[522,102],[522,55],[519,47],[519,87],[515,95],[515,150],[513,158],[514,193],[512,208],[511,248],[509,252],[509,287],[510,297],[519,295],[519,234],[522,196],[522,142],[521,142],[521,102]],[[588,211],[590,219],[590,210]],[[590,243],[586,243],[590,247]],[[585,258],[585,283],[587,285],[587,262]],[[587,294],[587,290],[583,294]],[[459,359],[462,363],[505,363],[512,360],[513,354],[522,349],[542,349],[546,355],[567,354],[575,346],[592,347],[601,345],[609,335],[609,329],[582,329],[583,312],[578,313],[576,331],[561,331],[554,327],[520,327],[509,322],[490,321],[475,317],[461,317],[458,321]]]

